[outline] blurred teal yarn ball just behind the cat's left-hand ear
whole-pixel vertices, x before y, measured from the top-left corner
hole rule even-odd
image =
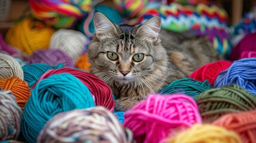
[[[94,10],[92,10],[86,17],[82,18],[77,26],[77,29],[84,33],[87,37],[92,37],[93,33],[95,32],[93,23],[95,12],[104,14],[107,18],[109,18],[110,21],[112,21],[112,23],[120,24],[122,21],[122,15],[114,8],[110,7],[109,5],[96,5]]]

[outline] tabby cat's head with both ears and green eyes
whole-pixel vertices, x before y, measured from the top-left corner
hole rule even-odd
[[[94,26],[95,36],[88,48],[91,70],[106,83],[138,82],[152,73],[154,64],[165,54],[163,49],[157,49],[159,17],[141,26],[118,26],[96,13]]]

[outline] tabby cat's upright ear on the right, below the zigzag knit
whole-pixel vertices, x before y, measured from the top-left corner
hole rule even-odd
[[[156,41],[158,39],[159,31],[161,29],[161,18],[159,16],[155,16],[147,20],[144,24],[142,24],[137,33],[143,33],[149,38],[150,41]]]

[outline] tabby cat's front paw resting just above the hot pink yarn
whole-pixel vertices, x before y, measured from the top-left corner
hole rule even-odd
[[[118,111],[127,111],[134,107],[135,104],[140,102],[139,100],[122,100],[118,99],[115,102],[115,109]]]

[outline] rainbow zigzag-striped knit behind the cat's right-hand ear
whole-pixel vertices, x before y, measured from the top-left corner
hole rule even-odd
[[[157,2],[156,2],[157,3]],[[226,27],[227,13],[216,5],[198,4],[196,6],[183,6],[175,2],[169,5],[153,3],[141,11],[130,24],[142,24],[154,15],[162,20],[162,29],[175,32],[184,32],[195,25],[204,27]]]

